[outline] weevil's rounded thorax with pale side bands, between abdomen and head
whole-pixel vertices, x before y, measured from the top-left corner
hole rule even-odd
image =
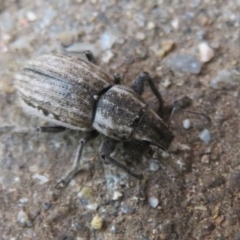
[[[132,89],[115,85],[100,97],[93,127],[113,139],[128,140],[146,106]]]

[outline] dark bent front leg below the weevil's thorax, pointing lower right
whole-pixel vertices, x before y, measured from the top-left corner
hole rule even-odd
[[[132,172],[127,166],[123,165],[122,163],[116,161],[115,159],[110,157],[110,154],[114,151],[116,147],[116,141],[112,139],[107,139],[104,141],[101,149],[101,157],[105,163],[112,163],[113,165],[121,168],[123,171],[127,172],[129,175],[137,178],[137,179],[143,179],[142,174],[136,174]]]

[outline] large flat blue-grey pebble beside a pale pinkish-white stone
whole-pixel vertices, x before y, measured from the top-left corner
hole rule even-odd
[[[166,64],[174,72],[187,72],[199,74],[201,72],[202,63],[190,54],[174,54],[166,59]]]

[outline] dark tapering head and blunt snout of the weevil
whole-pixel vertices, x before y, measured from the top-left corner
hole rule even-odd
[[[133,138],[138,141],[149,142],[162,150],[167,150],[174,135],[163,120],[153,110],[147,108],[134,130]]]

